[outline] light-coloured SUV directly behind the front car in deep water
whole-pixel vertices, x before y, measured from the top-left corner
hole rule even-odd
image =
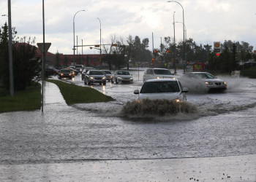
[[[148,79],[173,79],[173,75],[170,70],[165,68],[148,68],[144,72],[143,82]]]

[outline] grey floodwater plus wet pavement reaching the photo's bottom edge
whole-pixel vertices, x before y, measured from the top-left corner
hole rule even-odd
[[[67,106],[46,83],[43,114],[0,114],[0,181],[256,181],[254,79],[219,76],[227,92],[188,93],[196,113],[126,116],[142,85],[132,74],[90,86],[113,102]]]

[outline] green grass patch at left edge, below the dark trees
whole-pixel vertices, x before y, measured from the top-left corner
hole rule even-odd
[[[15,91],[0,88],[0,113],[10,111],[31,111],[41,108],[41,84],[34,83],[25,90]]]

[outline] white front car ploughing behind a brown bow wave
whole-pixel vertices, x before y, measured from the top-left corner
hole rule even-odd
[[[182,87],[177,79],[148,79],[143,83],[141,90],[135,90],[138,100],[167,99],[167,100],[187,100],[186,92],[189,90]]]

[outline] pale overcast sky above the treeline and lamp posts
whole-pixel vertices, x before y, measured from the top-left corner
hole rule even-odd
[[[75,15],[75,44],[99,44],[99,20],[102,41],[110,43],[111,35],[127,39],[129,35],[148,38],[152,49],[165,36],[173,38],[173,15],[176,41],[183,41],[182,8],[176,2],[159,0],[45,0],[45,42],[51,42],[49,52],[73,54],[73,17]],[[256,49],[255,0],[179,0],[184,8],[187,38],[197,44],[214,41],[246,41]],[[12,27],[18,36],[36,37],[42,42],[42,0],[12,0]],[[1,15],[8,15],[8,1],[0,0]],[[175,13],[174,13],[175,12]],[[97,19],[99,18],[99,20]],[[4,25],[7,17],[0,17]],[[80,54],[82,49],[78,49]],[[83,48],[83,54],[98,54]]]

